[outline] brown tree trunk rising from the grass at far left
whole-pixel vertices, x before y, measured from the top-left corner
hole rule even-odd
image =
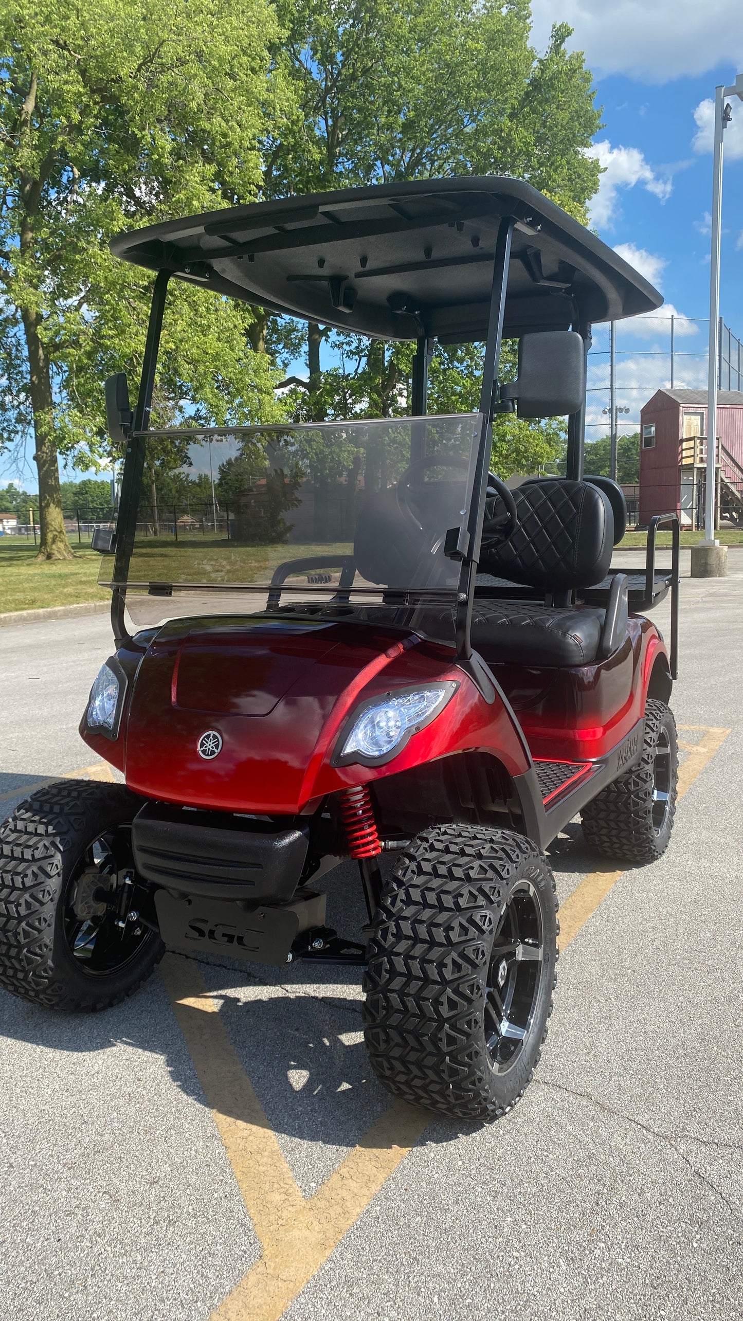
[[[29,363],[30,404],[36,437],[36,466],[38,469],[38,522],[40,544],[37,560],[73,560],[73,548],[65,531],[62,494],[59,491],[59,464],[54,440],[54,412],[49,361],[38,333],[38,313],[21,308]]]

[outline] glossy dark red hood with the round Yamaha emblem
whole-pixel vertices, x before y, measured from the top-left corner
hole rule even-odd
[[[353,624],[176,620],[136,672],[120,736],[127,785],[190,806],[297,812],[327,791],[327,744],[370,682],[383,671],[383,691],[452,672],[451,653],[416,642]],[[197,752],[208,729],[222,737],[212,761]],[[333,787],[372,775],[341,769]]]

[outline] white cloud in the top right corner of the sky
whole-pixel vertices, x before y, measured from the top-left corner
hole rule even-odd
[[[628,74],[648,83],[698,75],[723,61],[740,67],[740,0],[531,0],[533,42],[543,50],[553,22],[574,28],[596,75]]]

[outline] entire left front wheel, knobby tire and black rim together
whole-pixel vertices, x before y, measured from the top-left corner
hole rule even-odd
[[[57,1009],[116,1004],[164,952],[143,921],[123,785],[59,781],[0,827],[0,985]]]

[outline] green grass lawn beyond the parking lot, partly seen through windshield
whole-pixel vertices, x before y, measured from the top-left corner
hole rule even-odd
[[[743,546],[742,530],[718,534],[723,546]],[[695,546],[701,532],[682,532],[682,546]],[[628,532],[619,550],[645,547],[645,532]],[[670,532],[658,532],[657,546],[670,546]],[[112,561],[91,551],[87,546],[73,547],[74,560],[37,560],[36,547],[21,538],[0,538],[0,613],[33,610],[49,605],[77,605],[86,601],[107,601],[110,590],[98,587],[100,569]],[[270,577],[276,564],[304,555],[348,553],[348,543],[287,544],[287,546],[234,546],[222,538],[200,538],[193,542],[143,539],[135,551],[132,579],[152,583],[251,583]]]

